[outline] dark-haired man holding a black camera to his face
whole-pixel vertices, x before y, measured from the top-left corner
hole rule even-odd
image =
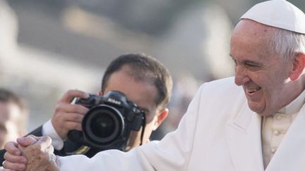
[[[142,128],[139,131],[131,130],[126,146],[121,149],[122,151],[128,151],[148,142],[152,131],[157,129],[167,117],[168,109],[166,106],[172,91],[172,77],[168,70],[154,58],[150,58],[143,53],[126,54],[119,56],[109,64],[102,77],[102,87],[98,95],[105,96],[113,90],[123,93],[128,101],[136,103],[145,113],[144,131],[142,132]],[[88,99],[89,94],[79,90],[67,91],[58,101],[52,119],[30,134],[51,137],[56,155],[67,156],[83,153],[91,157],[101,149],[83,148],[83,146],[74,148],[73,146],[76,144],[67,139],[68,132],[71,130],[82,130],[82,120],[89,110],[80,103],[71,103],[76,97],[85,100]],[[6,153],[5,158],[22,158],[15,145],[13,143],[8,144],[6,149],[14,151],[13,153],[16,156]],[[67,148],[73,148],[73,150]],[[25,168],[25,165],[23,166]]]

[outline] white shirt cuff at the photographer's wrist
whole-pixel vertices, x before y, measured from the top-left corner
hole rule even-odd
[[[51,120],[48,120],[47,122],[44,123],[44,125],[42,125],[42,135],[51,137],[52,146],[57,151],[60,151],[64,147],[64,141],[56,133]]]

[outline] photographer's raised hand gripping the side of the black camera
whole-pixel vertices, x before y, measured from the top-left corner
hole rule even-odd
[[[70,130],[81,130],[81,122],[88,108],[79,104],[71,104],[74,98],[87,99],[88,93],[79,90],[69,90],[58,101],[52,116],[52,125],[61,139],[66,139]]]

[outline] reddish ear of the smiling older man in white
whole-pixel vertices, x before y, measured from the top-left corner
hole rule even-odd
[[[297,53],[294,57],[292,72],[289,77],[294,81],[299,78],[305,67],[305,53]]]

